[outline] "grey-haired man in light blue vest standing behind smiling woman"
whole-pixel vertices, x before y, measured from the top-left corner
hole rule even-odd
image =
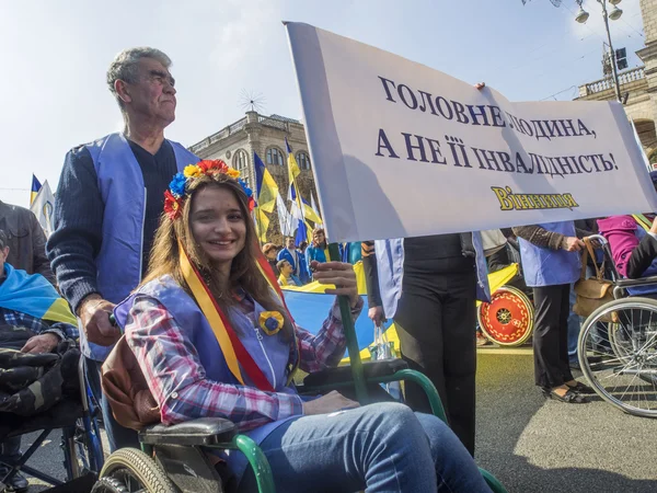
[[[170,66],[170,58],[153,48],[116,56],[107,84],[123,113],[124,131],[71,149],[57,190],[47,252],[79,318],[81,348],[97,397],[102,363],[120,336],[110,323],[112,309],[146,273],[172,176],[198,162],[164,138],[176,106]],[[136,446],[137,435],[115,422],[105,399],[101,408],[111,449]]]

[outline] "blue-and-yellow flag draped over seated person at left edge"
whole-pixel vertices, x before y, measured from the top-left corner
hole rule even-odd
[[[0,307],[37,319],[77,325],[68,303],[41,274],[30,275],[4,264],[4,282],[0,284]]]

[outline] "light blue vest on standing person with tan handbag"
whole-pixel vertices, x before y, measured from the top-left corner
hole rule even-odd
[[[546,222],[539,225],[548,231],[566,237],[575,236],[575,222]],[[520,257],[525,282],[530,287],[572,284],[579,279],[581,261],[579,253],[537,246],[519,238]]]

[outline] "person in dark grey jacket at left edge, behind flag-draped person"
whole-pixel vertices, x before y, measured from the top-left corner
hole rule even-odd
[[[46,234],[34,213],[0,200],[0,229],[8,237],[7,262],[27,274],[41,274],[54,285],[55,276],[46,256]]]

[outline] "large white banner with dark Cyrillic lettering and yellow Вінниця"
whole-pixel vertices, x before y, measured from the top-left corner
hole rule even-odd
[[[620,103],[514,103],[311,25],[286,25],[331,241],[657,210]]]

